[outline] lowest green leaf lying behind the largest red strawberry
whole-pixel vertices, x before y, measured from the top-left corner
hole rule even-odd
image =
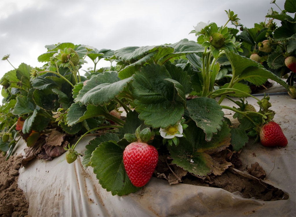
[[[91,167],[102,188],[122,196],[139,188],[131,184],[123,165],[123,150],[114,142],[103,142],[93,151]]]

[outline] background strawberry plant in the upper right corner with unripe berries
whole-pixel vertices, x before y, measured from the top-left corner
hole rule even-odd
[[[277,6],[276,1],[271,3]],[[285,1],[284,9],[279,8],[280,12],[269,9],[264,22],[255,23],[254,28],[243,27],[243,31],[237,35],[245,56],[287,79],[289,86],[294,86],[296,77],[295,8],[295,1]],[[292,16],[288,13],[292,13]],[[275,20],[281,21],[281,26],[276,26]]]

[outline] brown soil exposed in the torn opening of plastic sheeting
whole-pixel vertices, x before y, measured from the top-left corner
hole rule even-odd
[[[264,182],[263,178],[266,173],[257,162],[252,164],[251,168],[241,168],[241,165],[235,168],[232,165],[222,175],[211,174],[207,177],[197,177],[180,170],[184,171],[181,167],[170,164],[168,158],[167,163],[164,163],[164,159],[158,161],[154,174],[157,178],[168,180],[170,184],[184,183],[221,188],[231,193],[240,192],[244,198],[264,201],[287,200],[289,198],[289,195],[281,189]]]

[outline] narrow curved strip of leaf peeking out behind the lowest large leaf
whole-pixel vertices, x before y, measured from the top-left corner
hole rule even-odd
[[[96,149],[96,147],[98,147],[99,144],[106,141],[117,142],[119,141],[119,137],[114,133],[106,133],[89,141],[89,144],[85,146],[86,150],[84,151],[81,164],[84,166],[90,166],[92,152]]]

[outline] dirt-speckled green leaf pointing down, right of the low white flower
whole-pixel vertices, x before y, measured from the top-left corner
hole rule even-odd
[[[206,140],[210,141],[213,133],[217,133],[223,124],[224,112],[214,99],[207,97],[194,98],[187,101],[190,117],[205,132]]]

